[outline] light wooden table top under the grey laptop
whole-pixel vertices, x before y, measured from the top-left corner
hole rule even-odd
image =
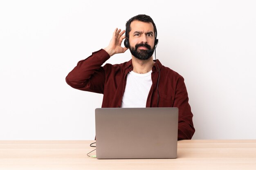
[[[178,141],[177,159],[96,159],[92,142],[0,141],[0,170],[256,170],[256,140]]]

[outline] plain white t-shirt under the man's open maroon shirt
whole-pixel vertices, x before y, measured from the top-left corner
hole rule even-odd
[[[122,99],[122,108],[144,108],[152,86],[152,71],[139,74],[133,71],[127,74],[126,88]]]

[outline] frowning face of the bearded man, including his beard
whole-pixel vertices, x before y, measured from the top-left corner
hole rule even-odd
[[[130,24],[130,52],[139,60],[148,60],[155,50],[155,32],[151,22],[132,21]]]

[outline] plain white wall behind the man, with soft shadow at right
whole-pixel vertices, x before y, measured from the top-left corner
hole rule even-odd
[[[185,79],[193,139],[256,139],[255,9],[254,0],[1,1],[0,140],[94,139],[103,95],[65,77],[137,14],[153,18],[157,58]],[[107,62],[128,60],[126,51]]]

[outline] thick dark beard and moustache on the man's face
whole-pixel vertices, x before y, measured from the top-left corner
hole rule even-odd
[[[138,49],[140,46],[144,46],[146,47],[148,50],[142,50],[142,49]],[[155,50],[155,46],[153,49],[151,49],[151,46],[148,44],[136,44],[135,48],[130,46],[129,47],[130,52],[132,53],[132,55],[134,57],[136,57],[139,60],[148,60],[154,53]]]

